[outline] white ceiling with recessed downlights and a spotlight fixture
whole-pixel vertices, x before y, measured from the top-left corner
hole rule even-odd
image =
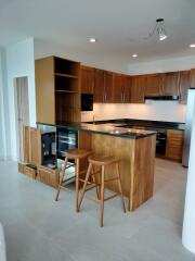
[[[168,39],[145,40],[158,17],[165,18]],[[67,51],[129,63],[192,55],[195,0],[0,0],[0,46],[31,36]],[[98,42],[90,44],[90,37]]]

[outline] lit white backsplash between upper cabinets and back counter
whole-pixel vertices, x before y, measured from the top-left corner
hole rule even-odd
[[[81,121],[139,119],[165,122],[185,122],[186,105],[178,101],[147,101],[145,104],[94,103],[92,112],[82,112]]]

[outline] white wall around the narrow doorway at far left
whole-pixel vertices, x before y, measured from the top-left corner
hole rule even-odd
[[[8,96],[9,96],[9,121],[11,149],[8,152],[10,158],[17,160],[16,149],[16,114],[15,114],[15,90],[14,78],[28,77],[28,103],[29,123],[36,125],[36,96],[35,96],[35,60],[34,39],[29,38],[5,48]]]

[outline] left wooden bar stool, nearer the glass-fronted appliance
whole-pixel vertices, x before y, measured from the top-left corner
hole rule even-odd
[[[79,165],[80,165],[80,160],[88,158],[92,151],[88,150],[82,150],[82,149],[69,149],[65,152],[65,162],[64,166],[62,170],[62,176],[60,178],[60,184],[58,184],[58,189],[56,192],[55,201],[58,200],[60,191],[62,188],[63,183],[66,182],[66,170],[68,169],[67,163],[68,160],[74,160],[75,161],[75,177],[76,177],[76,211],[78,212],[78,200],[79,200],[79,181],[83,182],[82,178],[79,178]]]

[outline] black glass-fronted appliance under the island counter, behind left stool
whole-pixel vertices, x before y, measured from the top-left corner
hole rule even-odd
[[[56,157],[64,160],[68,149],[78,147],[78,132],[68,128],[56,128]]]

